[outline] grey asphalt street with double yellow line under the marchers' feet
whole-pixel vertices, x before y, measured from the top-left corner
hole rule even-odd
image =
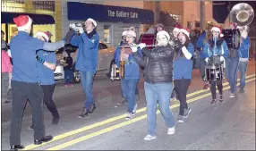
[[[239,76],[238,76],[239,78]],[[224,81],[225,102],[210,105],[209,90],[202,90],[200,72],[194,70],[188,92],[192,113],[184,123],[176,123],[175,135],[166,133],[162,115],[158,113],[158,138],[145,141],[147,116],[143,78],[139,83],[140,100],[135,117],[124,119],[126,105],[120,105],[120,83],[107,77],[97,77],[93,93],[98,109],[89,118],[80,119],[85,96],[81,85],[64,88],[58,83],[54,100],[61,114],[58,125],[51,125],[51,114],[45,107],[47,134],[55,136],[48,143],[33,145],[30,105],[24,112],[21,130],[21,144],[25,150],[195,150],[195,149],[250,149],[255,150],[255,62],[250,62],[247,71],[245,93],[236,93],[229,98],[228,84]],[[239,84],[239,82],[238,82]],[[175,118],[179,102],[171,102]],[[11,104],[2,105],[2,150],[8,150]]]

